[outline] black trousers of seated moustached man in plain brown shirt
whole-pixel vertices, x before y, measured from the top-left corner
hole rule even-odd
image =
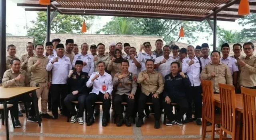
[[[154,107],[154,118],[155,120],[160,120],[161,116],[161,107],[160,107],[160,97],[153,98],[153,94],[146,95],[144,93],[140,93],[139,102],[138,102],[138,115],[139,119],[143,119],[145,117],[144,108],[146,106],[146,102],[152,102]]]

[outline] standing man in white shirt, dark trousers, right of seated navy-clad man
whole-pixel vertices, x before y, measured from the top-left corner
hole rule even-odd
[[[195,56],[195,48],[193,46],[187,47],[188,57],[182,60],[182,72],[187,74],[191,82],[191,87],[188,89],[188,105],[189,109],[187,112],[187,119],[184,121],[192,121],[192,100],[195,103],[195,118],[196,124],[201,125],[202,118],[202,88],[200,80],[200,72],[202,71],[202,66],[199,59]]]

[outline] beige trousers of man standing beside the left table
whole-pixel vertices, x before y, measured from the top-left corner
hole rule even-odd
[[[41,107],[42,107],[42,113],[47,113],[47,101],[48,101],[48,93],[49,89],[47,89],[47,83],[39,83],[35,81],[30,82],[30,87],[36,87],[36,83],[39,84],[40,89],[36,89],[36,96],[38,99],[41,97]]]

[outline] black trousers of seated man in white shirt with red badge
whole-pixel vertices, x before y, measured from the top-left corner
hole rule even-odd
[[[104,99],[104,94],[101,92],[98,95],[96,93],[90,93],[86,98],[86,109],[88,112],[88,117],[89,118],[93,117],[93,112],[94,112],[93,105],[96,101],[102,101],[103,118],[108,119],[110,116],[109,111],[111,107],[110,95],[108,99]]]

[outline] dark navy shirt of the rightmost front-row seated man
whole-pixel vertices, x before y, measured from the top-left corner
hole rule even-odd
[[[191,83],[188,76],[185,74],[186,78],[183,78],[179,73],[173,77],[172,73],[164,77],[164,97],[176,97],[182,98],[186,97],[186,89],[190,88]]]

